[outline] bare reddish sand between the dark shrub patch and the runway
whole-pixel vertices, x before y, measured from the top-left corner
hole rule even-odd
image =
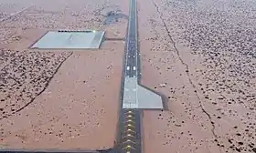
[[[111,148],[117,123],[116,93],[120,91],[122,56],[122,52],[116,50],[73,53],[32,104],[14,116],[1,119],[2,146]],[[29,99],[23,98],[24,103]],[[6,100],[5,105],[9,102]],[[16,100],[10,109],[22,104]],[[11,112],[7,108],[4,111]]]

